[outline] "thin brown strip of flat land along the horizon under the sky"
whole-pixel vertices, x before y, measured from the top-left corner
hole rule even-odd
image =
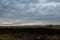
[[[48,28],[60,29],[60,25],[1,25],[0,28]]]

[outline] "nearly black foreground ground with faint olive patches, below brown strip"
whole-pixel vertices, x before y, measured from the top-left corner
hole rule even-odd
[[[60,40],[60,29],[0,28],[0,40]]]

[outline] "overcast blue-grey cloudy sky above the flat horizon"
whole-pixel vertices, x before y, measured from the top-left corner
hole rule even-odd
[[[0,0],[0,24],[60,24],[60,0]]]

